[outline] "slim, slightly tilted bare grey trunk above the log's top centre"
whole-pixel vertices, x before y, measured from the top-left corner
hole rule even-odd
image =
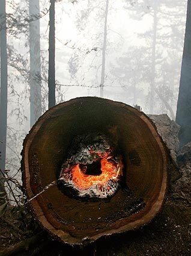
[[[109,0],[106,0],[106,11],[105,11],[105,23],[104,23],[104,34],[103,34],[103,48],[102,48],[102,75],[100,84],[100,97],[103,98],[103,87],[105,84],[105,67],[106,67],[106,45],[107,45],[107,23],[108,23],[108,5]]]

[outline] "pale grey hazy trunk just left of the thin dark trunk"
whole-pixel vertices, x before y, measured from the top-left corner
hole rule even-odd
[[[40,10],[39,0],[29,1],[29,53],[30,53],[30,114],[31,126],[41,116],[41,61],[40,61]]]

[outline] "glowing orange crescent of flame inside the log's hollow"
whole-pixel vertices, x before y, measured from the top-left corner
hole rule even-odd
[[[101,159],[102,173],[97,176],[86,175],[80,169],[79,164],[74,165],[71,169],[73,182],[76,184],[76,186],[79,189],[88,189],[93,185],[96,185],[96,184],[103,185],[111,179],[113,180],[117,179],[118,176],[121,174],[120,172],[121,172],[122,164],[120,163],[120,167],[119,167],[119,164],[109,161],[109,159],[111,158],[112,157],[109,156],[108,153],[102,156],[102,159]]]

